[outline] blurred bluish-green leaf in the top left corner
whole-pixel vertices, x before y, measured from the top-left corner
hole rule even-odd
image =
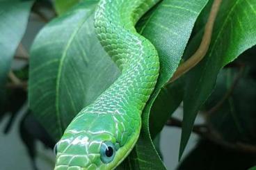
[[[0,1],[0,105],[15,50],[26,30],[33,1]]]

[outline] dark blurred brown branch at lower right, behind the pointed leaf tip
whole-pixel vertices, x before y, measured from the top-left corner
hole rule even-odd
[[[170,118],[166,122],[166,125],[182,128],[182,121],[180,121],[179,119]],[[232,151],[239,151],[243,153],[256,153],[256,146],[251,144],[244,144],[242,142],[227,142],[216,130],[207,125],[193,126],[193,133],[196,133],[200,137],[208,139],[209,141],[214,142],[215,144],[223,146],[224,148],[230,149]]]

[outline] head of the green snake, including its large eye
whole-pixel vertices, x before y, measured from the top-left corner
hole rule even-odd
[[[111,121],[110,115],[84,114],[76,120],[67,127],[54,148],[54,170],[114,169],[136,143],[138,135],[117,135],[120,128],[116,130],[118,125]],[[88,124],[91,128],[86,127]],[[132,136],[135,139],[131,139]]]

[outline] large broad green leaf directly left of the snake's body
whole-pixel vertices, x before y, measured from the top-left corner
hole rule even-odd
[[[31,47],[29,103],[54,139],[120,74],[95,35],[96,4],[79,3],[54,19]]]

